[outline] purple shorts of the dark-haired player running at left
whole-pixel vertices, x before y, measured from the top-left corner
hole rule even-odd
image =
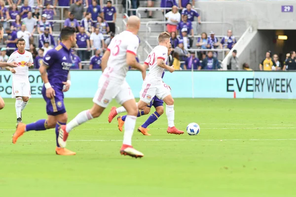
[[[59,114],[66,113],[65,105],[64,105],[64,93],[60,90],[55,89],[56,96],[53,99],[49,99],[46,97],[46,89],[43,85],[42,88],[42,96],[46,102],[46,113],[47,115],[57,116]]]

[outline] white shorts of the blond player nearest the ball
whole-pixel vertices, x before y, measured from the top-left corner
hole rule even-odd
[[[171,89],[164,82],[149,83],[144,81],[140,92],[140,100],[149,103],[154,96],[163,100],[166,96],[171,95]]]

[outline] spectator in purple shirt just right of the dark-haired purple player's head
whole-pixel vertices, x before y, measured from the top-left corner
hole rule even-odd
[[[87,48],[87,50],[90,49],[90,44],[89,44],[89,37],[87,34],[84,32],[84,28],[80,27],[79,33],[76,34],[76,45],[77,48]],[[77,54],[81,61],[85,61],[87,59],[87,52],[86,50],[78,50]]]

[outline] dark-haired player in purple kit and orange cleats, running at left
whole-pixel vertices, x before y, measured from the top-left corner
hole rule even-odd
[[[12,142],[15,144],[18,137],[23,135],[25,131],[43,131],[55,128],[56,154],[75,155],[75,152],[60,147],[58,144],[59,127],[66,125],[68,120],[63,92],[67,92],[71,85],[69,69],[73,64],[71,48],[76,44],[75,29],[63,28],[60,36],[62,40],[60,44],[46,53],[39,67],[44,82],[42,96],[46,102],[47,120],[41,119],[28,125],[19,123],[12,136]]]

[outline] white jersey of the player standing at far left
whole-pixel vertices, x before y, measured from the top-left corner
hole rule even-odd
[[[16,62],[19,66],[14,67],[15,73],[12,74],[13,81],[24,81],[29,80],[29,67],[26,66],[28,62],[31,62],[32,65],[34,64],[32,53],[26,51],[21,54],[17,51],[13,52],[7,61],[8,63]]]

